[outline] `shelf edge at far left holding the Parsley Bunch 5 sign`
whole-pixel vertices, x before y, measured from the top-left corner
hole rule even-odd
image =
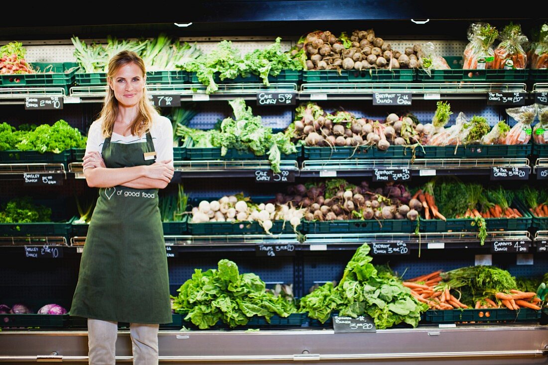
[[[28,182],[31,177],[29,175],[39,175],[40,178],[47,175],[48,178],[51,177],[58,183],[67,178],[65,165],[63,164],[0,164],[0,179],[2,180]],[[47,182],[44,182],[44,184],[47,184]]]

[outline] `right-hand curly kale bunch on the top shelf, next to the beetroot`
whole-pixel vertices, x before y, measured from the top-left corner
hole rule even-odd
[[[269,75],[278,76],[283,69],[303,69],[301,62],[282,52],[280,40],[282,38],[277,37],[276,42],[265,49],[256,49],[244,56],[246,72],[259,75],[265,85],[270,85]]]

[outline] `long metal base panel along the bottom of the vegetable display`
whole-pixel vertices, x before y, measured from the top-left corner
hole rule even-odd
[[[158,347],[159,362],[172,364],[289,364],[300,361],[324,365],[363,361],[538,364],[548,355],[544,347],[547,330],[538,323],[424,325],[379,329],[374,333],[335,333],[330,328],[161,330]],[[46,361],[70,365],[87,362],[85,337],[87,331],[82,330],[5,330],[0,332],[0,362]],[[509,338],[512,341],[508,341]],[[25,345],[21,346],[22,343]],[[127,329],[118,330],[116,354],[119,362],[131,361],[132,344]]]

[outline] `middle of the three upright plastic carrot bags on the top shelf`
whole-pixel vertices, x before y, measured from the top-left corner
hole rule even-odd
[[[493,68],[523,69],[527,67],[527,54],[522,44],[528,41],[519,24],[510,23],[500,33],[501,42],[495,49]]]

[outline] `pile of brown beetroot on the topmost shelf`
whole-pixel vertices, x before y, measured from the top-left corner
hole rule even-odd
[[[355,30],[350,38],[346,33],[335,37],[330,31],[316,31],[301,38],[290,54],[300,50],[306,55],[306,69],[361,70],[370,68],[418,68],[421,46],[415,44],[404,51],[392,50],[390,43],[375,36],[375,32]]]

